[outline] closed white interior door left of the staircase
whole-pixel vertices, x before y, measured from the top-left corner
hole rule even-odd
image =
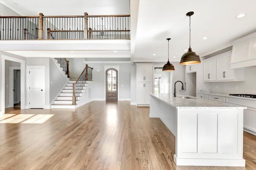
[[[29,68],[29,107],[45,106],[45,68]]]

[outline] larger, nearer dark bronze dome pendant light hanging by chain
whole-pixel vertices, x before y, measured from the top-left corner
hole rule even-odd
[[[193,14],[194,14],[194,12],[188,12],[186,14],[186,16],[189,16],[189,49],[188,49],[188,52],[186,52],[184,55],[182,55],[182,57],[180,59],[180,64],[182,64],[182,65],[201,63],[199,55],[197,55],[195,52],[192,51],[191,45],[190,45],[190,39],[191,39],[190,16],[192,16]]]

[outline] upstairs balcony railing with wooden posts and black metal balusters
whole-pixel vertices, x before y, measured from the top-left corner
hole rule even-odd
[[[130,39],[130,15],[0,16],[0,39]]]

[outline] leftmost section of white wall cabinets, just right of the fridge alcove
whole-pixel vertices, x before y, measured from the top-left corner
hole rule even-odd
[[[204,81],[216,81],[216,59],[204,62]]]

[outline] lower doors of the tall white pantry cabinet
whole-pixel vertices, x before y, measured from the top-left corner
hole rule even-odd
[[[149,105],[149,94],[152,93],[152,82],[138,82],[137,88],[137,105]]]

